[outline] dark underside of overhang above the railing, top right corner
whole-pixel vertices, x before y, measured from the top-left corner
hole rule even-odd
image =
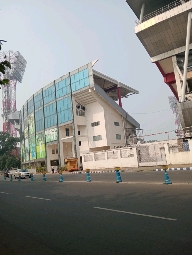
[[[139,19],[141,13],[141,6],[145,3],[144,16],[150,14],[165,5],[175,2],[174,0],[126,0],[127,4],[133,10],[137,18]]]

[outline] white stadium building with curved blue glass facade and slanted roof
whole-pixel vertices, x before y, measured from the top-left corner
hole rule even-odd
[[[20,111],[21,159],[26,166],[63,166],[65,159],[126,146],[140,127],[122,98],[138,94],[93,69],[93,61],[32,95]],[[15,118],[15,117],[14,117]]]

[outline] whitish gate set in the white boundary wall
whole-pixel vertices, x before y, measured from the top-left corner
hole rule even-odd
[[[137,147],[139,166],[166,165],[166,155],[163,143],[140,144]]]

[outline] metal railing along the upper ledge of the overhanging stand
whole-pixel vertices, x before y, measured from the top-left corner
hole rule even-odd
[[[177,7],[179,5],[182,5],[182,4],[185,4],[186,2],[189,2],[189,1],[191,1],[191,0],[176,0],[172,3],[170,3],[170,4],[167,4],[167,5],[163,6],[162,8],[160,8],[160,9],[154,11],[154,12],[151,12],[151,13],[145,15],[143,17],[142,22],[140,20],[136,20],[135,23],[136,23],[136,25],[139,25],[139,24],[143,23],[146,20],[149,20],[153,17],[156,17],[156,16],[158,16],[158,15],[164,13],[164,12],[170,11],[171,9],[174,9],[175,7]]]

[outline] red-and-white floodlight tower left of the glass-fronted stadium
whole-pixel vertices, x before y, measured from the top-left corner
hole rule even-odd
[[[3,113],[3,132],[7,132],[12,136],[17,136],[17,131],[14,125],[8,121],[8,117],[11,113],[15,112],[16,109],[16,84],[22,82],[23,75],[26,68],[26,60],[17,51],[2,52],[0,60],[8,60],[11,63],[11,69],[6,68],[3,78],[9,79],[9,84],[2,86],[2,105]]]

